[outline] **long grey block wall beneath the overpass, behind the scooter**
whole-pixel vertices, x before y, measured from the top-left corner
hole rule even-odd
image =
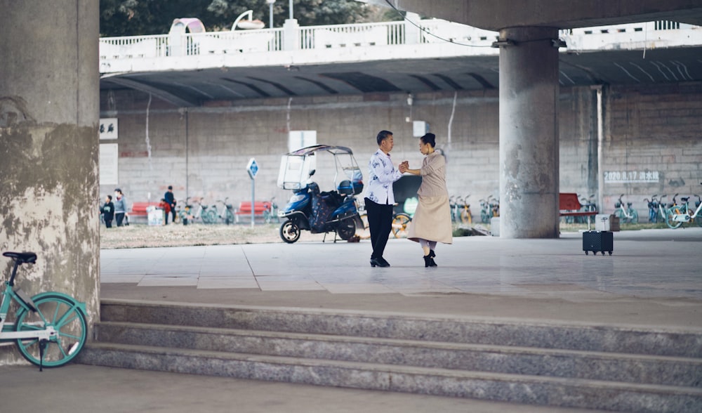
[[[478,200],[498,196],[498,93],[463,91],[414,96],[410,108],[404,93],[324,98],[255,100],[218,103],[178,110],[152,99],[149,114],[151,156],[147,151],[148,96],[135,91],[104,91],[102,117],[119,119],[119,184],[101,185],[102,195],[116,186],[133,201],[162,197],[168,185],[177,199],[205,197],[204,202],[229,197],[236,205],[251,198],[246,163],[255,157],[261,169],[257,199],[277,197],[284,204],[290,192],[276,186],[279,158],[287,148],[287,131],[315,130],[318,143],[345,145],[355,151],[366,172],[381,129],[395,133],[392,157],[418,165],[421,155],[412,137],[412,119],[429,122],[437,143],[448,157],[451,195],[470,194],[474,216]],[[602,173],[604,211],[614,210],[619,194],[647,216],[644,197],[668,193],[669,198],[702,192],[702,93],[700,84],[613,86],[604,88],[604,148]],[[597,98],[590,88],[562,88],[560,96],[560,191],[588,196],[597,192]],[[620,178],[616,178],[616,171]],[[649,182],[621,177],[621,171],[649,172]],[[614,174],[612,174],[614,172]],[[653,181],[651,173],[658,173]],[[635,177],[635,178],[638,178]],[[320,185],[322,176],[317,180]],[[322,189],[329,189],[324,188]],[[102,197],[101,195],[101,197]]]

